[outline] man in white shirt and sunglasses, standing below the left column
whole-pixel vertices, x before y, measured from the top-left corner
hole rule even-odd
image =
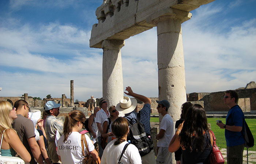
[[[95,117],[95,122],[98,126],[98,143],[99,143],[99,157],[101,158],[103,154],[103,148],[101,147],[101,134],[102,134],[102,125],[103,122],[110,117],[109,111],[108,111],[108,102],[105,99],[102,99],[99,102],[99,107],[101,110],[99,110]]]

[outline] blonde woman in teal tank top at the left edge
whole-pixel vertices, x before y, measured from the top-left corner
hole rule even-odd
[[[2,156],[14,157],[16,152],[25,161],[30,162],[31,156],[20,141],[18,134],[12,129],[12,121],[17,118],[16,108],[8,101],[0,101],[0,136],[3,135]]]

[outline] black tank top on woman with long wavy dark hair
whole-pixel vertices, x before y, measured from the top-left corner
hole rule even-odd
[[[210,147],[208,145],[210,145]],[[192,152],[182,150],[182,157],[184,159],[183,164],[196,164],[200,162],[204,163],[204,161],[205,163],[208,163],[208,157],[212,150],[210,133],[207,132],[207,135],[204,133],[204,149],[202,152],[196,152],[195,147],[196,145],[194,145],[194,142],[192,142]]]

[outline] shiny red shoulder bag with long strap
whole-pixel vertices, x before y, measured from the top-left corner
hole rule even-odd
[[[221,151],[219,150],[219,148],[217,147],[216,145],[216,138],[214,136],[214,133],[209,130],[212,134],[212,137],[213,137],[213,145],[212,145],[212,151],[211,151],[211,154],[210,154],[210,158],[209,158],[209,163],[211,164],[224,164],[224,158],[222,156],[222,153]]]

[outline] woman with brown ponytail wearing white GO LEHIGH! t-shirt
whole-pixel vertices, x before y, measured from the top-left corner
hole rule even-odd
[[[57,154],[63,164],[82,164],[83,153],[81,145],[81,135],[79,131],[82,129],[86,120],[84,114],[80,110],[72,110],[67,114],[63,126],[63,135],[58,140]],[[85,135],[89,152],[93,160],[98,160],[98,152],[94,149],[93,142]],[[87,155],[87,150],[84,144],[84,154]]]

